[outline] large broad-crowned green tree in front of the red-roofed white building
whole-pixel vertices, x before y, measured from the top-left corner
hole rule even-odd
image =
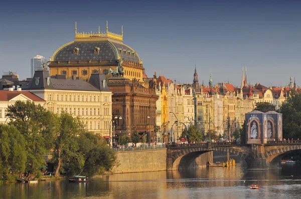
[[[25,138],[25,172],[32,178],[46,165],[43,155],[54,147],[57,116],[30,101],[16,101],[8,107],[7,116],[11,119],[9,124],[16,126]]]

